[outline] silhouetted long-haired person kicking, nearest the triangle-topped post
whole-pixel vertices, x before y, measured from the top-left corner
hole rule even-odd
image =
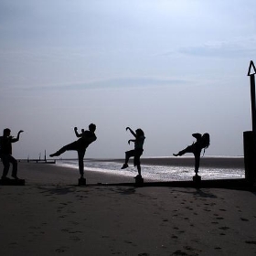
[[[192,136],[197,139],[197,142],[191,145],[188,145],[187,148],[173,155],[179,156],[187,153],[193,153],[195,156],[195,173],[197,176],[199,165],[200,165],[201,151],[202,149],[204,149],[205,151],[209,146],[209,133],[204,133],[203,135],[200,133],[193,133]]]

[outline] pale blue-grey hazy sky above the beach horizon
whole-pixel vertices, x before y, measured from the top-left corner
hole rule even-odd
[[[49,155],[90,123],[90,158],[123,158],[127,126],[144,130],[144,156],[171,156],[192,133],[210,133],[206,155],[243,155],[255,10],[255,0],[0,0],[0,130],[25,131],[13,155]]]

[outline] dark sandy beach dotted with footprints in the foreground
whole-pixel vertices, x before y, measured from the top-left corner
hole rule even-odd
[[[254,192],[134,187],[96,172],[78,187],[76,170],[18,166],[26,186],[0,186],[1,255],[256,254]]]

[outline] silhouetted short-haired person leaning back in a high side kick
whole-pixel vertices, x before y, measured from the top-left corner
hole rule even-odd
[[[96,125],[94,123],[91,123],[89,125],[89,131],[84,131],[84,129],[81,129],[81,133],[78,133],[78,128],[77,127],[74,128],[74,131],[76,133],[76,136],[80,139],[71,143],[71,144],[67,144],[67,145],[63,146],[56,153],[51,154],[49,156],[50,157],[59,156],[59,155],[63,154],[66,151],[69,151],[69,150],[77,151],[78,156],[79,156],[80,176],[83,177],[83,174],[84,174],[83,157],[85,155],[87,147],[91,143],[93,143],[94,141],[97,140],[97,137],[94,133],[96,131]]]

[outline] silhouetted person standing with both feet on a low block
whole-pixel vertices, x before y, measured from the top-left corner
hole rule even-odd
[[[20,130],[15,138],[11,136],[11,130],[9,128],[5,128],[3,136],[0,137],[0,157],[4,165],[2,179],[9,179],[7,177],[7,174],[10,168],[10,164],[13,165],[12,177],[18,179],[18,177],[16,176],[17,161],[16,158],[12,155],[12,144],[16,143],[19,140],[20,133],[23,133],[23,131]]]

